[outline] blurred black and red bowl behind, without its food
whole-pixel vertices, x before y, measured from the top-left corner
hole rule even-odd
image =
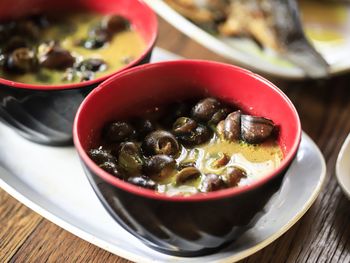
[[[0,120],[29,140],[47,145],[72,144],[75,113],[85,96],[111,75],[149,62],[157,37],[157,17],[140,0],[2,0],[0,20],[36,13],[95,12],[126,17],[146,43],[125,67],[94,80],[65,85],[30,85],[0,77]]]

